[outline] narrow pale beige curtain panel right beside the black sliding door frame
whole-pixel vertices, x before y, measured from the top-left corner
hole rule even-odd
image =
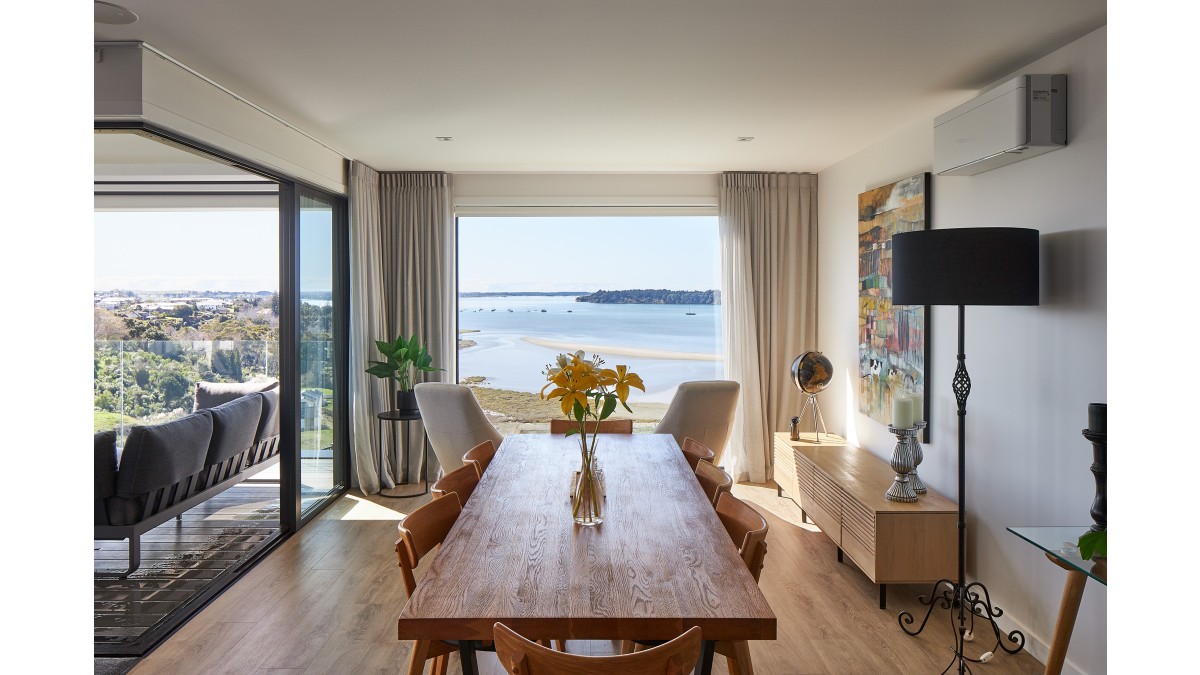
[[[388,334],[384,312],[383,234],[379,223],[379,174],[350,163],[350,442],[353,476],[364,492],[379,491],[379,425],[376,413],[391,407],[390,388],[364,370],[378,358],[374,341]],[[385,474],[390,467],[385,467]]]

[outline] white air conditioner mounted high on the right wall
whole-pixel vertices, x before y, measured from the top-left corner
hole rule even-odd
[[[1067,145],[1067,76],[1022,74],[934,119],[934,173],[974,175]]]

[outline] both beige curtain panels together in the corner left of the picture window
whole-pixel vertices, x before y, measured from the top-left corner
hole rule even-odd
[[[354,476],[367,494],[406,478],[401,462],[382,452],[392,429],[382,429],[380,438],[376,416],[395,402],[391,383],[365,372],[367,362],[380,356],[376,340],[416,333],[428,342],[433,365],[445,369],[428,380],[457,381],[451,204],[449,174],[378,173],[350,165],[350,424]],[[410,437],[397,446],[412,448],[407,478],[419,482],[437,460],[430,453],[430,466],[420,466],[421,429],[397,424],[395,432],[406,426]]]

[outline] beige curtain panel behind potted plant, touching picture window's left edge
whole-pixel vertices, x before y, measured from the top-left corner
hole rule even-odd
[[[380,173],[379,216],[385,298],[379,306],[385,315],[386,335],[415,333],[428,344],[433,365],[444,369],[418,374],[414,384],[457,382],[457,228],[450,174]],[[422,442],[420,431],[418,425],[410,425],[412,436],[406,444],[413,448],[409,482],[420,480],[422,471],[431,476],[437,468],[432,452],[430,466],[420,466],[416,458]],[[384,474],[383,486],[390,488],[400,479],[395,468],[390,476]]]

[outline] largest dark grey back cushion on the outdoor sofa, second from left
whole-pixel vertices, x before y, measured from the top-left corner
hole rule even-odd
[[[121,452],[116,496],[145,495],[199,473],[211,440],[212,417],[208,411],[166,424],[134,426]]]

